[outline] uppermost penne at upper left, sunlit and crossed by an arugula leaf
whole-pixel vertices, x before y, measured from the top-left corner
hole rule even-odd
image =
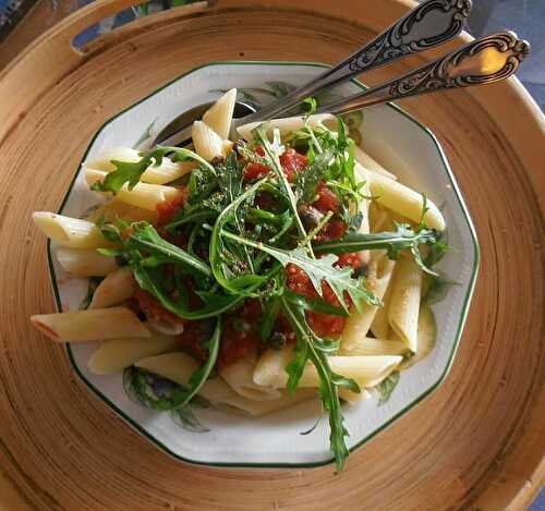
[[[105,150],[94,160],[84,163],[85,170],[98,170],[102,172],[112,172],[116,166],[112,161],[124,161],[134,163],[142,159],[136,149],[129,147],[116,147]],[[191,172],[197,167],[195,161],[173,162],[170,158],[162,158],[161,165],[150,165],[141,175],[143,183],[166,184],[174,181],[182,175]]]

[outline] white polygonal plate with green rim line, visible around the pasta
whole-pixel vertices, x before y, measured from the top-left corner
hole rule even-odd
[[[100,150],[133,146],[155,120],[155,130],[166,125],[179,112],[194,105],[218,98],[214,89],[265,87],[270,82],[303,84],[323,71],[319,64],[293,62],[223,62],[195,69],[166,87],[109,120],[92,141],[84,160]],[[269,85],[267,85],[269,83]],[[353,94],[355,82],[340,87],[341,94]],[[272,85],[274,88],[274,85]],[[258,96],[270,100],[268,96]],[[468,313],[479,267],[475,232],[445,155],[434,135],[415,119],[393,106],[377,106],[364,111],[363,147],[402,182],[424,192],[441,205],[448,226],[449,244],[456,252],[441,260],[439,268],[455,278],[447,297],[435,305],[437,344],[432,354],[405,370],[390,400],[378,405],[377,396],[355,406],[346,405],[343,413],[350,431],[350,449],[362,446],[408,412],[444,380],[452,364]],[[81,216],[96,204],[83,174],[77,172],[60,212]],[[51,254],[53,253],[53,254]],[[69,279],[49,251],[53,291],[59,309],[77,308],[86,294],[85,279]],[[174,424],[166,413],[152,412],[129,400],[121,375],[95,376],[87,369],[94,343],[68,346],[70,361],[93,392],[107,406],[164,451],[180,460],[217,466],[316,466],[332,461],[329,451],[327,421],[322,421],[310,435],[318,406],[315,402],[261,418],[244,418],[211,409],[195,409],[198,421],[208,431],[195,433]]]

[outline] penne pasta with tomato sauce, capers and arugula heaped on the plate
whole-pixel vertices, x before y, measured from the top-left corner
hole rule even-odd
[[[123,372],[158,412],[204,400],[259,416],[317,397],[341,470],[343,407],[387,400],[433,350],[445,220],[311,100],[230,141],[235,96],[193,124],[191,149],[86,161],[98,204],[84,218],[34,214],[89,294],[32,321],[57,342],[98,341],[89,370]]]

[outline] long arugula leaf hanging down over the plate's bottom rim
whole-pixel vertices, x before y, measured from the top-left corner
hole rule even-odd
[[[348,431],[343,424],[339,387],[347,387],[355,392],[360,392],[360,388],[355,381],[343,378],[331,370],[327,355],[316,349],[316,334],[306,324],[304,311],[293,306],[292,303],[287,301],[286,296],[280,299],[280,305],[296,337],[295,357],[286,367],[286,372],[288,373],[288,391],[294,391],[303,374],[306,361],[310,360],[318,374],[322,403],[324,409],[329,413],[330,448],[335,455],[337,470],[340,472],[344,466],[349,451],[344,442]]]

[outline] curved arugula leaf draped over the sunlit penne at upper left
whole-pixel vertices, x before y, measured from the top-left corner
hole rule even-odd
[[[111,160],[111,163],[116,167],[116,170],[109,172],[101,183],[95,183],[90,187],[95,192],[113,192],[117,194],[125,183],[128,183],[129,190],[133,190],[140,182],[142,174],[146,171],[149,166],[158,167],[161,165],[162,159],[167,155],[173,155],[171,160],[186,161],[193,159],[198,161],[202,166],[208,168],[214,174],[216,170],[208,163],[204,158],[193,153],[190,149],[183,149],[180,147],[160,147],[147,153],[141,153],[142,159],[135,162],[118,161]]]

